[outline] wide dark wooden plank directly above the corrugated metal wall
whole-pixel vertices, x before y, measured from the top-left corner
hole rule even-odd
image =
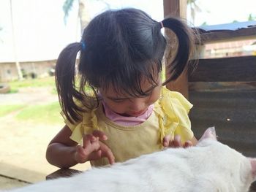
[[[189,82],[233,81],[256,81],[256,56],[200,59],[196,69],[189,67]]]

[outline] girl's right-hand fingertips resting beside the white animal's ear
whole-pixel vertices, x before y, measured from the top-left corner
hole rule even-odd
[[[191,141],[184,142],[184,145],[181,143],[181,137],[179,135],[176,135],[173,140],[170,139],[170,135],[167,135],[162,139],[162,145],[164,147],[191,147],[193,144]]]

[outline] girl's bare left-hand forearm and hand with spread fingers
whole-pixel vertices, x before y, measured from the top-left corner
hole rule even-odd
[[[69,139],[72,131],[66,125],[48,145],[46,158],[50,164],[60,168],[68,168],[86,161],[107,157],[110,164],[115,162],[110,148],[100,140],[108,137],[102,131],[94,131],[83,136],[83,146]]]

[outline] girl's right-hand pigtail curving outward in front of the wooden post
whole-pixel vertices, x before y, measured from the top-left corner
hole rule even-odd
[[[190,55],[195,49],[195,36],[192,29],[178,18],[166,18],[160,24],[172,30],[178,39],[176,55],[171,64],[167,66],[170,77],[164,82],[164,85],[166,85],[167,82],[176,80],[186,68]]]

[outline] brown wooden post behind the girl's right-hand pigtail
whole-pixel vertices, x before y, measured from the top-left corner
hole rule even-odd
[[[180,18],[187,18],[187,0],[164,0],[164,16],[176,16]],[[174,34],[170,31],[165,31],[165,35],[168,39],[173,39]],[[173,47],[173,46],[172,46]],[[170,55],[167,55],[167,64],[170,64],[170,58],[172,58],[172,53],[175,51],[170,48]],[[166,77],[170,74],[166,72]],[[187,99],[189,97],[189,82],[188,82],[188,72],[185,70],[177,80],[167,83],[166,87],[170,91],[178,91],[182,93]]]

